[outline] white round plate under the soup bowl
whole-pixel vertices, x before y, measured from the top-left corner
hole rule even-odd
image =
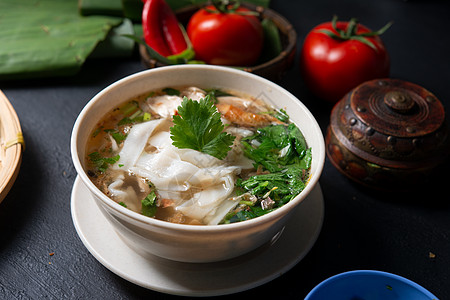
[[[71,200],[72,219],[83,244],[106,268],[139,286],[184,296],[236,293],[273,280],[295,266],[311,249],[322,228],[320,186],[300,204],[278,239],[244,256],[195,264],[143,257],[116,234],[77,177]]]

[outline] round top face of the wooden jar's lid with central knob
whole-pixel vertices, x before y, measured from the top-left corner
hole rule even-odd
[[[395,137],[431,134],[445,119],[444,107],[431,92],[398,79],[366,82],[353,91],[350,103],[364,124]]]

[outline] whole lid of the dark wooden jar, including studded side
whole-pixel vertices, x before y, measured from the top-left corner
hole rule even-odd
[[[422,167],[448,154],[441,102],[402,80],[377,79],[356,87],[333,109],[331,126],[348,150],[380,166]]]

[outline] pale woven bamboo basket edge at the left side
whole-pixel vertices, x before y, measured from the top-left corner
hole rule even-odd
[[[19,118],[0,90],[0,203],[19,173],[24,141]]]

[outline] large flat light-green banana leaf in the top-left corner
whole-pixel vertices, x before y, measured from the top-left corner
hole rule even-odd
[[[121,23],[80,16],[76,0],[1,0],[0,80],[73,75]]]

